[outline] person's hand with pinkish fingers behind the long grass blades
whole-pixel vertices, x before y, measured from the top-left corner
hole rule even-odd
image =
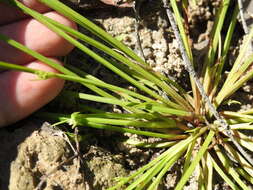
[[[76,28],[73,22],[56,12],[50,11],[48,7],[36,0],[21,1],[26,6],[62,24]],[[55,57],[66,55],[73,49],[73,46],[63,38],[36,20],[27,18],[26,15],[13,7],[0,4],[0,12],[0,33],[25,46],[55,60]],[[4,42],[0,42],[0,60],[56,72],[49,66]],[[60,92],[64,84],[63,80],[56,78],[48,80],[35,79],[37,77],[29,73],[15,71],[0,73],[0,126],[14,123],[41,108]]]

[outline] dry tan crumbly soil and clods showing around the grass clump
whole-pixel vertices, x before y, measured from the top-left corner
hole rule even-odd
[[[79,12],[140,53],[136,45],[135,18],[131,7],[112,7],[101,2],[98,6],[87,4],[86,1],[71,1]],[[190,6],[188,24],[194,55],[198,56],[200,61],[203,60],[202,55],[208,44],[212,19],[219,2],[200,0],[197,6]],[[146,1],[143,7],[139,34],[146,61],[154,70],[187,88],[188,74],[182,64],[170,25],[161,9],[161,3],[150,0]],[[84,59],[86,62],[91,61],[80,55],[78,50],[74,50],[69,57],[69,60],[77,65],[82,64]],[[89,68],[93,74],[102,76],[108,82],[119,82],[117,76],[113,76],[94,61]],[[246,92],[249,91],[247,87],[245,89]],[[55,104],[52,103],[47,109],[52,109]],[[117,107],[114,107],[114,110],[121,111],[117,110]],[[126,138],[137,138],[133,135],[79,130],[80,133],[89,135],[80,142],[79,157],[71,159],[75,155],[71,145],[75,146],[75,142],[66,139],[62,129],[52,128],[46,121],[38,121],[31,116],[13,126],[0,129],[0,189],[33,190],[40,182],[44,182],[41,183],[41,189],[103,190],[114,185],[116,177],[129,175],[163,152],[163,149],[139,149],[126,145]],[[179,161],[168,172],[160,189],[173,189],[180,171]],[[185,189],[197,189],[196,180],[193,175]]]

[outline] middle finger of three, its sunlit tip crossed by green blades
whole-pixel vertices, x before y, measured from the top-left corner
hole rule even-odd
[[[44,15],[66,26],[76,28],[74,22],[56,12],[48,12]],[[73,49],[73,45],[34,19],[1,26],[0,33],[48,57],[63,56]],[[33,61],[34,58],[4,42],[0,42],[0,60],[25,64]]]

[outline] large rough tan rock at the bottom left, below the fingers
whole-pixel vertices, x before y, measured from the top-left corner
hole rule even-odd
[[[10,169],[10,190],[35,189],[42,176],[48,175],[70,158],[72,153],[66,141],[55,135],[57,131],[48,129],[51,126],[45,125],[17,147],[17,157]],[[46,177],[44,189],[85,189],[82,174],[78,170],[76,159],[64,164]]]

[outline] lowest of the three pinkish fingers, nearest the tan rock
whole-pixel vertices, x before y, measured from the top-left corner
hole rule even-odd
[[[26,66],[56,72],[40,61]],[[23,119],[41,108],[60,92],[64,84],[57,78],[37,79],[36,75],[24,72],[6,71],[0,74],[0,127]]]

